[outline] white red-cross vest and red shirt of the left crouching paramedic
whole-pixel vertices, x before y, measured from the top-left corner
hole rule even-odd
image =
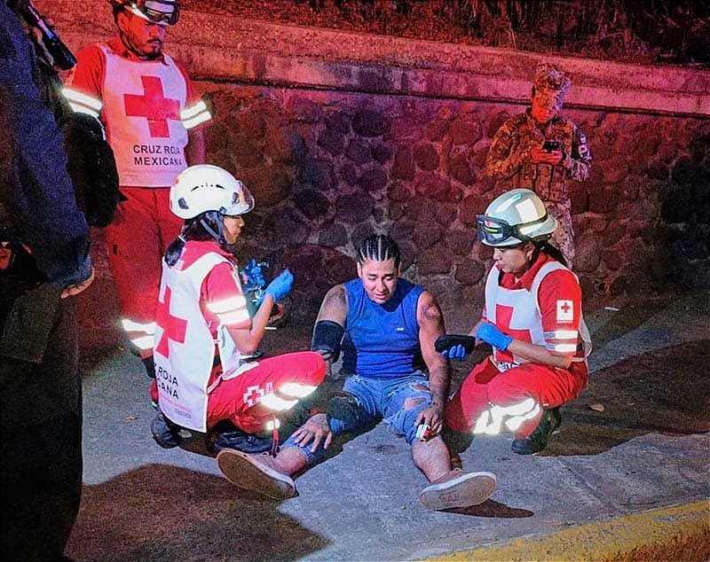
[[[210,390],[220,380],[258,364],[241,360],[225,323],[219,320],[221,314],[230,325],[250,322],[237,268],[216,249],[214,243],[188,242],[174,266],[163,261],[155,329],[154,361],[162,413],[177,425],[201,432],[208,429]],[[203,283],[223,263],[233,268],[233,292],[205,303]],[[205,306],[217,314],[206,317]],[[213,371],[216,347],[222,364],[217,377]]]

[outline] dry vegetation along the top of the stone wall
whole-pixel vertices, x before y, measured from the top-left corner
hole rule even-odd
[[[183,0],[187,10],[638,64],[710,68],[706,0]]]

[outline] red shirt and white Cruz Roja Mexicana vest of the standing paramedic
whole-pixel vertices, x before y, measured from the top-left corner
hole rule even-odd
[[[168,55],[140,60],[120,38],[79,51],[64,94],[99,117],[122,186],[166,187],[187,167],[187,129],[210,118],[185,71]]]

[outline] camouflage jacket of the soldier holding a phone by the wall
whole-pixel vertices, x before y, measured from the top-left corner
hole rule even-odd
[[[556,166],[534,164],[530,159],[530,148],[546,140],[560,143],[563,160]],[[545,201],[562,201],[568,197],[567,180],[585,181],[591,163],[587,137],[577,125],[556,115],[540,126],[528,110],[498,129],[485,159],[485,171],[505,189],[524,187]]]

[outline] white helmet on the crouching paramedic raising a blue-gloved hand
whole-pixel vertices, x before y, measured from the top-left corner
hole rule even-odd
[[[170,188],[170,211],[181,219],[192,219],[207,211],[244,215],[253,208],[254,198],[244,183],[210,164],[185,168]]]

